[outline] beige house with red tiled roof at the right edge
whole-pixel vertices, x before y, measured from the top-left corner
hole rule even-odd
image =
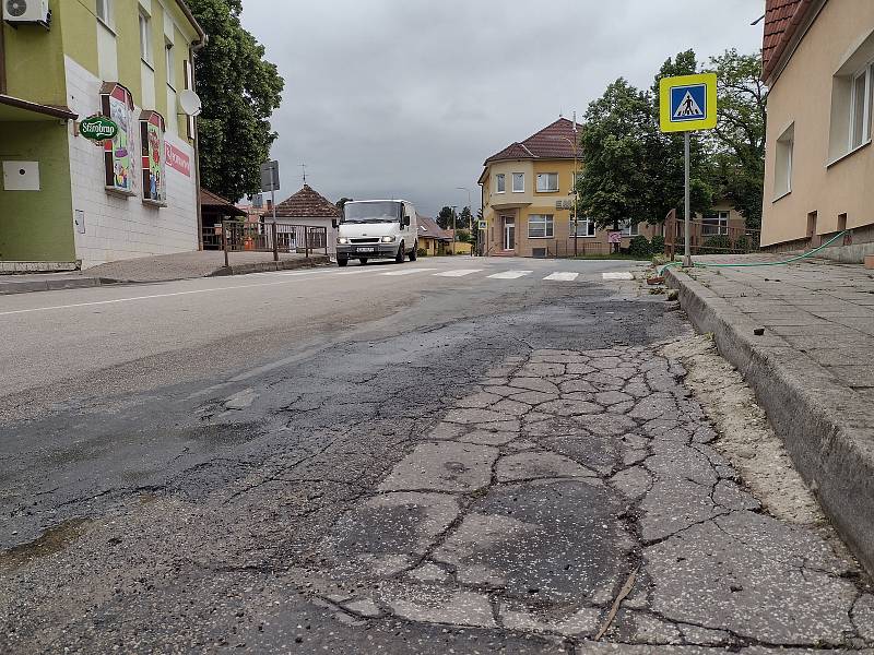
[[[874,252],[874,2],[767,0],[768,96],[761,245]],[[840,248],[840,246],[847,246]]]

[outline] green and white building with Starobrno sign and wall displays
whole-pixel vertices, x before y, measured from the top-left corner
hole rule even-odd
[[[185,2],[2,5],[0,272],[196,250],[196,121],[181,105],[206,36]],[[111,141],[81,135],[96,115],[118,126]]]

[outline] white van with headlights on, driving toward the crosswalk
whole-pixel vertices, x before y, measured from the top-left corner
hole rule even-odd
[[[416,210],[405,200],[350,201],[343,205],[343,217],[335,227],[340,266],[351,259],[362,264],[371,259],[402,263],[405,257],[416,261]]]

